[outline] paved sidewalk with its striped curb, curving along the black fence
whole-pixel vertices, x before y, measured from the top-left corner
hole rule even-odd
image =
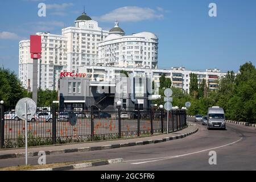
[[[132,139],[119,139],[86,143],[70,143],[55,146],[38,146],[29,147],[28,156],[37,156],[39,151],[46,152],[46,155],[64,154],[70,152],[86,152],[95,150],[106,150],[119,147],[138,146],[143,144],[152,144],[166,142],[168,140],[180,139],[196,133],[197,126],[189,125],[187,128],[175,131],[171,134],[153,135],[152,137],[141,137]],[[13,148],[8,150],[0,150],[0,159],[22,158],[24,157],[24,148]]]

